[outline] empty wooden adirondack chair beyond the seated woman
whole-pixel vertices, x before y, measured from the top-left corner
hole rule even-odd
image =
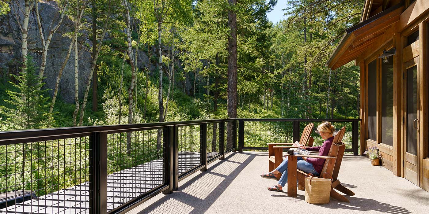
[[[311,122],[305,126],[302,131],[299,144],[304,146],[313,146],[314,139],[310,136],[313,130],[314,124]],[[268,143],[268,170],[271,172],[284,160],[283,149],[285,148],[296,148],[292,147],[293,143]],[[278,145],[289,145],[289,146],[278,146]],[[277,174],[277,179],[280,179],[281,173]]]

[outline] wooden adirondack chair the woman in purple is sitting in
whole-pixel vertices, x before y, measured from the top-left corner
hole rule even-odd
[[[349,202],[349,200],[344,197],[343,195],[337,193],[334,189],[339,190],[342,193],[345,193],[349,196],[354,196],[355,194],[344,187],[341,182],[338,180],[338,172],[340,170],[341,161],[344,156],[344,150],[345,150],[345,144],[341,142],[342,138],[344,137],[345,133],[345,126],[341,128],[340,131],[335,135],[334,140],[332,141],[331,149],[329,150],[329,157],[335,157],[335,159],[329,159],[325,161],[325,164],[323,165],[323,169],[321,172],[321,177],[324,177],[325,173],[332,175],[332,184],[331,184],[331,197],[334,199],[337,199],[341,202]],[[309,155],[305,156],[308,158],[323,158],[320,156],[314,156]],[[325,158],[326,159],[326,158]],[[305,176],[307,173],[298,170],[297,173],[297,179],[298,179],[298,189],[304,190],[305,188]]]

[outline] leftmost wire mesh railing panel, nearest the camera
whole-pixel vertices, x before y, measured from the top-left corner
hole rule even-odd
[[[89,213],[89,137],[0,146],[0,213]]]

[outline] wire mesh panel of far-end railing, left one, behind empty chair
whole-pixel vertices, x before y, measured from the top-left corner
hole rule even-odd
[[[293,143],[293,122],[244,122],[245,147],[266,147],[267,143]]]

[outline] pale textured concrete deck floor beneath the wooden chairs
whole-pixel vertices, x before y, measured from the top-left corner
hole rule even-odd
[[[211,163],[207,172],[179,182],[178,191],[159,194],[128,214],[429,213],[428,192],[360,156],[345,155],[338,176],[356,193],[346,196],[350,203],[331,198],[329,204],[312,205],[301,190],[296,198],[268,191],[277,181],[260,177],[268,169],[267,155],[230,153],[224,161]]]

